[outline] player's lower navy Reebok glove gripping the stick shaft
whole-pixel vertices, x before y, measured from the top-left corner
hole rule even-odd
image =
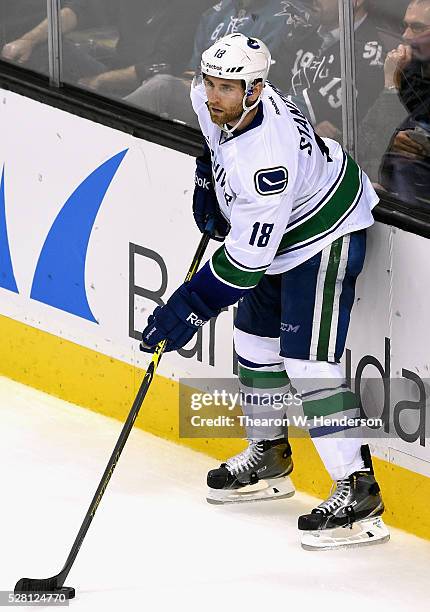
[[[190,293],[185,284],[169,298],[165,306],[157,306],[142,332],[140,350],[152,353],[159,342],[167,340],[166,351],[177,351],[195,333],[216,317],[219,310],[207,306],[197,293]]]

